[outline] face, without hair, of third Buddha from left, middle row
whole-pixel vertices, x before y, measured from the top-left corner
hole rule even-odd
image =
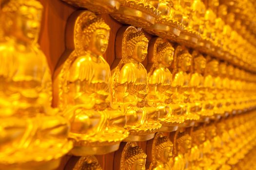
[[[133,50],[132,58],[138,63],[144,61],[148,54],[148,44],[145,42],[138,42]]]

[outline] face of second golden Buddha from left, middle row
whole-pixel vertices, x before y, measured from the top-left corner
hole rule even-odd
[[[89,42],[88,50],[96,55],[102,55],[108,47],[109,31],[97,29]]]

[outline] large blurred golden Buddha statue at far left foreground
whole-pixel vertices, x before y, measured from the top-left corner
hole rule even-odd
[[[73,147],[68,122],[51,107],[51,72],[38,37],[37,0],[3,0],[0,42],[0,169],[54,170]]]

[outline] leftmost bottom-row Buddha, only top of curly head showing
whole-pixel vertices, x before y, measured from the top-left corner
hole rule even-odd
[[[65,168],[65,170],[70,170]],[[95,156],[81,156],[72,170],[102,170]]]

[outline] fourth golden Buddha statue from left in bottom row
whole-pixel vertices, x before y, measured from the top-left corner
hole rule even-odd
[[[189,154],[191,149],[191,136],[186,132],[178,132],[175,137],[175,157],[170,160],[172,170],[185,170],[189,167]]]

